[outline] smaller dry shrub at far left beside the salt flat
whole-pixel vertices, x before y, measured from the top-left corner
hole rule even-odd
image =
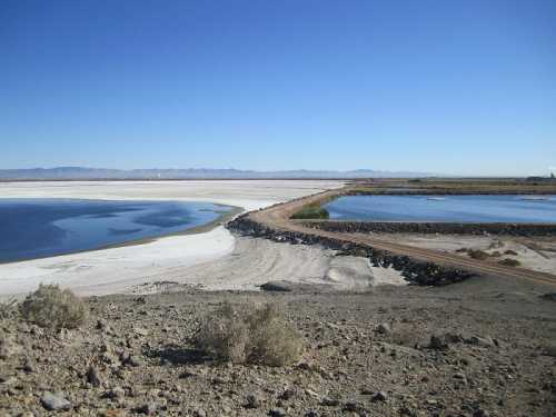
[[[23,300],[21,314],[26,320],[41,327],[73,329],[83,324],[87,307],[69,289],[41,284]]]

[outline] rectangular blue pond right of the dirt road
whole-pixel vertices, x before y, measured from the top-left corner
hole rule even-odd
[[[346,196],[324,207],[336,220],[556,222],[556,197]],[[546,198],[546,199],[545,199]]]

